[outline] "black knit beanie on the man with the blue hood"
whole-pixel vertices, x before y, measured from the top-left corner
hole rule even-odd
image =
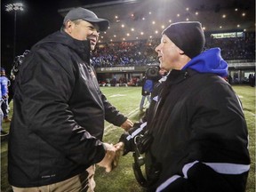
[[[191,59],[204,50],[204,31],[200,22],[172,23],[164,29],[162,35],[168,36]]]

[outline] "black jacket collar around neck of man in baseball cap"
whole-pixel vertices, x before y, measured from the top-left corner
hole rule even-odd
[[[34,47],[45,44],[45,43],[57,43],[68,46],[70,49],[74,50],[77,54],[80,55],[85,60],[89,60],[88,56],[90,55],[90,41],[80,41],[69,36],[65,31],[60,29],[49,36],[46,36],[44,39],[39,41],[34,45]]]

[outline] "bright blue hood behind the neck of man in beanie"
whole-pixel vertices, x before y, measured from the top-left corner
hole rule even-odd
[[[212,48],[190,60],[181,70],[192,68],[199,73],[228,76],[228,63],[222,59],[220,48]]]

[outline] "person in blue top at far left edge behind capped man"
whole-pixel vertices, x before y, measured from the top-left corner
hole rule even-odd
[[[2,111],[4,113],[4,122],[11,122],[11,119],[9,118],[9,86],[11,85],[11,82],[9,78],[5,75],[5,69],[1,68],[1,90],[3,93],[3,102],[1,105]]]

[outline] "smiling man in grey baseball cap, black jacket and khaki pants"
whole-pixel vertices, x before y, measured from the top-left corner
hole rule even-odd
[[[76,8],[60,31],[35,44],[19,68],[13,97],[8,175],[13,191],[93,191],[94,164],[112,169],[104,119],[132,122],[100,92],[90,52],[108,20]]]

